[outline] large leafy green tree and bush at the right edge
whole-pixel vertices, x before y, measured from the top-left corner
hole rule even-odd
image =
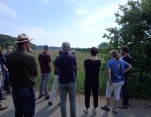
[[[150,93],[145,89],[151,86],[151,84],[146,84],[146,81],[151,81],[151,77],[148,77],[148,74],[151,74],[150,6],[150,0],[130,1],[126,5],[120,5],[119,11],[115,13],[115,21],[118,27],[108,28],[109,34],[103,36],[110,40],[110,45],[115,49],[119,49],[123,45],[129,47],[130,55],[133,58],[133,70],[131,72],[133,80],[130,79],[129,88],[132,91],[133,88],[138,88],[133,92],[133,95],[142,93],[140,89],[144,89],[144,96]],[[149,96],[151,97],[151,95]]]

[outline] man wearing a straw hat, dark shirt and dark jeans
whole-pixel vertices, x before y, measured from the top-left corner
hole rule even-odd
[[[8,69],[12,86],[12,97],[15,117],[33,117],[35,113],[34,77],[37,76],[37,64],[27,51],[29,38],[20,34],[17,38],[17,49],[8,55]]]

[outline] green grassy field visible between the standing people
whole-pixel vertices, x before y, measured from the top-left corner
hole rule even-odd
[[[37,61],[37,58],[38,58],[38,55],[39,53],[41,53],[42,50],[34,50],[33,51],[33,55],[34,57],[36,58],[36,61]],[[58,55],[58,51],[50,51],[49,52],[50,55],[51,55],[51,59],[54,60],[55,57]],[[102,55],[98,55],[99,58],[102,60],[102,62],[104,63],[105,61],[102,59]],[[84,60],[87,59],[89,57],[89,53],[88,52],[76,52],[76,57],[77,57],[77,64],[78,64],[78,68],[79,68],[79,71],[78,71],[78,76],[77,76],[77,93],[83,93],[84,92],[84,67],[83,67],[83,63],[84,63]],[[38,61],[37,61],[38,63]],[[39,65],[38,65],[38,68],[39,68]],[[53,68],[53,67],[52,67]],[[36,89],[38,90],[39,88],[39,82],[40,82],[40,72],[38,74],[38,77],[35,78],[35,87]],[[54,78],[54,74],[53,74],[53,70],[51,72],[51,79],[50,79],[50,82],[49,82],[49,90],[51,90],[51,86],[52,86],[52,83],[53,83],[53,78]],[[104,78],[104,71],[103,70],[100,70],[100,86],[99,86],[99,89],[100,89],[100,94],[101,95],[104,95],[104,91],[105,91],[105,78]]]

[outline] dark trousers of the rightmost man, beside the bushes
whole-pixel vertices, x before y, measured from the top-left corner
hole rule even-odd
[[[129,94],[128,94],[128,78],[125,78],[124,85],[122,86],[122,97],[123,97],[123,105],[129,104]]]

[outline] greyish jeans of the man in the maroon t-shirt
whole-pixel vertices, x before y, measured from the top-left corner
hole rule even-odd
[[[39,95],[48,96],[48,83],[50,79],[50,73],[42,73],[40,78],[40,87],[39,87]]]

